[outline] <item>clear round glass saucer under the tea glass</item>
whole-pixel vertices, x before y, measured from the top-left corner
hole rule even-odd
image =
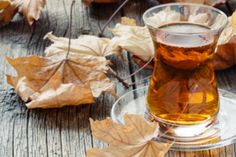
[[[113,105],[111,118],[117,123],[123,123],[125,114],[138,114],[145,116],[146,92],[148,86],[132,90],[121,96]],[[225,90],[220,93],[220,112],[217,122],[203,134],[194,138],[177,139],[175,137],[157,137],[162,142],[175,143],[172,150],[200,151],[223,147],[236,142],[236,94]]]

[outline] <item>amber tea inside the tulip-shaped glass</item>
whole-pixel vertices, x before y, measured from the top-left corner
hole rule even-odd
[[[161,26],[159,35],[153,37],[155,68],[147,107],[159,121],[192,125],[217,115],[219,98],[212,62],[216,40],[214,35],[198,34],[208,30],[198,24],[173,23]]]

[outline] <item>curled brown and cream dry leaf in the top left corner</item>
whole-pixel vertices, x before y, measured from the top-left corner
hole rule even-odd
[[[39,19],[45,0],[11,0],[4,5],[6,3],[6,0],[0,0],[0,25],[8,24],[17,12],[23,14],[31,25]]]

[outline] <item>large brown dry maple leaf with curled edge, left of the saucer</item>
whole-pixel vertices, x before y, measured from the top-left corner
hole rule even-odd
[[[114,93],[107,78],[104,57],[56,53],[51,56],[7,58],[18,76],[7,75],[7,81],[27,102],[28,108],[55,108],[90,104],[102,92]]]

